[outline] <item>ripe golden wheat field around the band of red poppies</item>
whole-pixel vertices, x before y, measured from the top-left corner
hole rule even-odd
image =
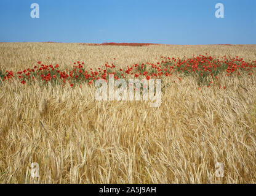
[[[256,45],[0,43],[0,70],[17,72],[37,61],[122,68],[205,53],[255,60]],[[99,102],[94,94],[87,84],[0,83],[0,183],[35,183],[33,162],[36,183],[256,183],[255,73],[223,75],[201,91],[192,77],[170,82],[158,108],[148,101]]]

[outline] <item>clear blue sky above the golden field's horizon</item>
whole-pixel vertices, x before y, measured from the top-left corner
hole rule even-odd
[[[1,0],[0,42],[256,44],[255,10],[255,0]]]

